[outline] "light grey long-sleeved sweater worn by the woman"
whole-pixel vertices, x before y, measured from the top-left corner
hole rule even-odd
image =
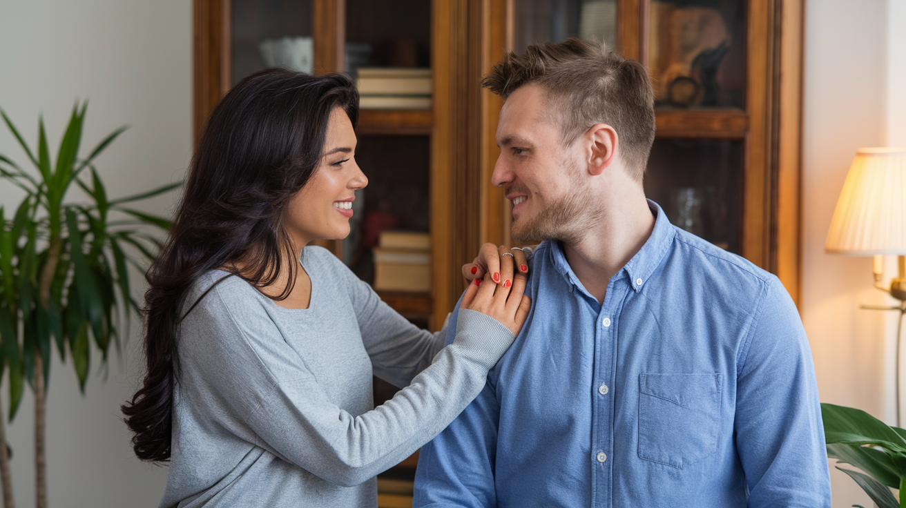
[[[461,311],[441,350],[445,331],[410,324],[329,251],[301,262],[308,309],[229,277],[182,321],[161,507],[377,506],[374,475],[447,427],[515,339]],[[187,305],[225,275],[204,275]],[[372,373],[406,388],[374,408]]]

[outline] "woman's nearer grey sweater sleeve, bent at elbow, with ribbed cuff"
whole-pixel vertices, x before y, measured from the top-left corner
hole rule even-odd
[[[199,305],[194,320],[204,326],[193,330],[202,337],[180,355],[188,353],[183,360],[202,371],[212,397],[246,422],[255,445],[333,484],[360,484],[436,436],[515,339],[493,318],[460,311],[456,339],[433,364],[394,398],[353,416],[325,394],[260,304],[228,306],[221,290]]]

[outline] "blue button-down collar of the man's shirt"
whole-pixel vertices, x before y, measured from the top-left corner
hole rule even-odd
[[[673,226],[670,225],[670,220],[667,218],[667,215],[664,214],[664,211],[660,206],[654,201],[651,201],[651,199],[648,199],[647,201],[648,207],[651,208],[651,214],[655,216],[654,229],[651,230],[651,235],[648,237],[648,240],[645,241],[645,244],[641,246],[639,252],[632,256],[629,263],[623,266],[622,270],[612,277],[612,281],[616,281],[622,278],[624,276],[623,273],[625,273],[625,276],[629,278],[630,285],[635,292],[640,292],[641,288],[645,286],[645,282],[648,281],[651,274],[658,268],[660,261],[663,259],[664,255],[667,254],[668,249],[670,249],[673,237],[676,236]],[[576,277],[575,273],[573,273],[573,269],[570,267],[569,263],[566,262],[563,244],[561,242],[551,242],[550,246],[552,254],[551,261],[554,264],[554,269],[574,286],[582,288],[583,285],[579,281],[579,278]]]

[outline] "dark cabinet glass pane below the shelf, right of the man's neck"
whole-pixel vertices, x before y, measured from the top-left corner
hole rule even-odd
[[[645,194],[674,225],[738,254],[742,154],[738,140],[655,139]]]

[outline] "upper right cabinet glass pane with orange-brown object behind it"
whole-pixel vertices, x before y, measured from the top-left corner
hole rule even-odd
[[[746,2],[651,2],[648,60],[659,107],[742,108]]]

